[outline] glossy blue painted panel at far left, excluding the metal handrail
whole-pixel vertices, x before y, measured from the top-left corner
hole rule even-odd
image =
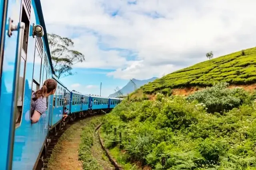
[[[1,13],[4,11],[4,3],[8,1],[1,0]],[[1,22],[6,21],[5,25],[1,27],[1,33],[4,31],[4,41],[1,40],[1,44],[4,45],[4,54],[0,56],[2,60],[2,70],[0,75],[1,92],[0,92],[0,169],[9,169],[12,163],[12,153],[9,152],[12,147],[12,141],[14,140],[14,90],[15,90],[15,74],[17,63],[17,39],[18,31],[13,31],[11,37],[7,36],[9,20],[12,17],[15,23],[19,21],[19,15],[14,15],[15,12],[20,11],[20,1],[8,2],[6,10],[6,18],[1,17]],[[3,50],[3,49],[1,49]],[[0,66],[1,67],[1,66]]]

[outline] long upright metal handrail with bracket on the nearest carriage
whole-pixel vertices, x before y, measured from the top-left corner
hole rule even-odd
[[[9,169],[12,169],[12,152],[13,152],[13,144],[14,144],[14,130],[15,130],[15,124],[16,124],[16,119],[15,115],[17,114],[17,102],[18,102],[18,82],[19,82],[19,77],[20,77],[20,57],[21,57],[21,50],[23,46],[23,38],[24,38],[24,29],[25,29],[25,23],[20,22],[18,25],[13,24],[13,20],[9,18],[9,30],[8,30],[8,36],[12,36],[12,31],[18,31],[18,48],[16,50],[16,74],[15,74],[15,88],[14,88],[14,117],[13,117],[13,130],[11,132],[11,139],[10,139],[10,158],[9,158]]]

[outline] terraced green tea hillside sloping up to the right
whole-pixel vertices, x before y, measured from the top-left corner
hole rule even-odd
[[[172,72],[141,87],[144,93],[172,88],[211,86],[214,82],[253,84],[256,82],[256,47],[204,61]]]

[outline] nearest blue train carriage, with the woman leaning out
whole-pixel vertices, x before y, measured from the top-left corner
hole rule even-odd
[[[31,124],[32,91],[52,77],[40,0],[0,2],[0,169],[33,169],[48,135],[48,108]]]

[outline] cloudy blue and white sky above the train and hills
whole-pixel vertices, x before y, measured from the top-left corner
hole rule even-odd
[[[68,88],[108,96],[129,79],[175,70],[256,44],[255,0],[42,0],[48,33],[68,37],[85,61]]]

